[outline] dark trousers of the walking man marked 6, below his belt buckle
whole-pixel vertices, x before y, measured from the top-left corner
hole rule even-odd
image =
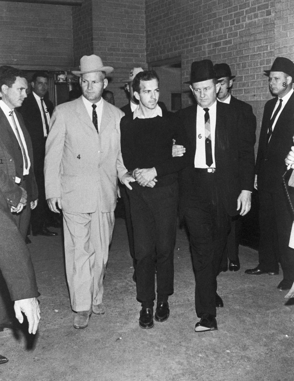
[[[223,251],[230,229],[215,173],[195,168],[184,218],[189,230],[195,272],[195,309],[198,317],[216,316],[215,295]]]

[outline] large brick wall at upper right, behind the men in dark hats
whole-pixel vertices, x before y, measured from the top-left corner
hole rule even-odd
[[[147,62],[181,56],[182,82],[192,61],[227,62],[236,75],[232,93],[252,104],[258,135],[271,98],[263,70],[278,55],[294,60],[293,21],[293,0],[146,0]]]

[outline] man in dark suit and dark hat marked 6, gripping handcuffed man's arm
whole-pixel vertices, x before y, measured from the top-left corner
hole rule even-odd
[[[217,329],[216,275],[230,229],[230,218],[251,206],[254,181],[254,136],[240,112],[218,102],[213,63],[191,67],[190,89],[196,105],[177,114],[188,136],[189,166],[180,173],[180,216],[190,234],[195,271],[195,331]],[[189,143],[189,144],[188,144]]]

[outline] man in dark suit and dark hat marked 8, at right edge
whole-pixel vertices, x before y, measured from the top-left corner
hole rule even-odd
[[[283,189],[284,159],[293,145],[294,64],[277,57],[268,75],[270,91],[276,97],[267,101],[260,130],[254,187],[259,193],[259,264],[246,274],[275,275],[279,262],[283,280],[279,290],[288,290],[294,281],[294,249],[289,248],[292,216]]]

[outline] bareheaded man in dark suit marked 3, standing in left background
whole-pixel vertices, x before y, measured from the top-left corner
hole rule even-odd
[[[48,75],[44,72],[36,72],[32,77],[32,93],[30,93],[19,112],[24,118],[24,124],[29,131],[32,140],[34,155],[34,173],[38,186],[38,205],[32,211],[30,223],[33,235],[57,235],[47,229],[51,211],[48,208],[45,197],[44,159],[45,143],[49,133],[50,117],[54,106],[44,96],[48,93]],[[53,220],[53,217],[51,216]]]

